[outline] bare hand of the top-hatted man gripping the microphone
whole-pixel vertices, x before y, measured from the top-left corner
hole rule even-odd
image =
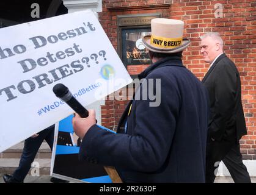
[[[78,113],[75,114],[75,117],[72,119],[73,129],[78,135],[78,137],[82,140],[84,135],[86,135],[87,131],[96,124],[95,119],[95,110],[88,110],[89,116],[87,118],[81,118]]]

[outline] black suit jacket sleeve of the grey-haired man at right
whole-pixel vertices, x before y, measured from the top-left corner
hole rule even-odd
[[[214,115],[210,124],[210,136],[219,141],[225,133],[227,122],[232,120],[234,115],[237,78],[235,70],[229,65],[229,62],[222,62],[216,75],[214,80]]]

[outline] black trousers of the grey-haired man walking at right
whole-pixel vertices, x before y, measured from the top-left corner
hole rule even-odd
[[[249,173],[243,164],[240,144],[231,141],[209,141],[207,144],[206,182],[213,183],[219,163],[223,161],[234,182],[251,183]]]

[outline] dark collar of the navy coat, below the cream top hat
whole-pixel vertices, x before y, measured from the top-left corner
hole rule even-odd
[[[181,57],[178,56],[170,56],[164,59],[158,60],[158,62],[153,63],[152,65],[148,66],[141,74],[139,74],[139,79],[143,79],[148,76],[154,69],[163,67],[163,66],[183,66]]]

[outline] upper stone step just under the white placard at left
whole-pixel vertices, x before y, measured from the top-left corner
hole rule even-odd
[[[10,147],[4,152],[0,153],[0,158],[19,158],[21,157],[24,147],[24,142],[18,143],[15,146]],[[44,141],[40,146],[35,158],[51,158],[51,149],[48,144]]]

